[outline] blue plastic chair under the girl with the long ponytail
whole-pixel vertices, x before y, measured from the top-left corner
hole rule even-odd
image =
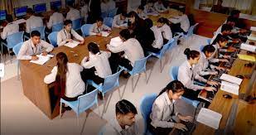
[[[74,110],[74,112],[76,113],[77,122],[79,123],[80,113],[85,112],[85,110],[91,108],[92,106],[94,106],[94,104],[97,104],[97,107],[99,108],[98,88],[94,89],[88,94],[80,95],[76,101],[66,101],[65,99],[60,99],[60,118],[62,114],[62,104],[66,104]]]

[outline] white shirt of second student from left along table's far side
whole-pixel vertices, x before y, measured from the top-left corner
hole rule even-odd
[[[84,41],[84,38],[82,36],[80,36],[76,31],[74,31],[73,29],[71,29],[71,34],[73,35],[73,37],[75,37],[75,39],[79,40],[79,41]],[[70,39],[70,32],[65,31],[65,29],[62,29],[61,31],[58,32],[57,35],[57,45],[58,46],[63,46],[66,43],[66,39]]]

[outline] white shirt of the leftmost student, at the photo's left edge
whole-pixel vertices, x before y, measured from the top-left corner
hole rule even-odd
[[[19,25],[15,23],[8,23],[6,27],[3,27],[1,37],[3,40],[7,38],[7,36],[12,35],[19,31]]]

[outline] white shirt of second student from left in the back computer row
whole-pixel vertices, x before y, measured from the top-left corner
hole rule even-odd
[[[26,32],[30,33],[31,32],[31,28],[43,27],[43,26],[44,26],[44,24],[42,22],[41,17],[31,16],[26,21]]]

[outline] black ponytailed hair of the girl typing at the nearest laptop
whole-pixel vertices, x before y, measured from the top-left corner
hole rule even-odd
[[[164,92],[169,92],[170,90],[173,94],[175,94],[184,91],[185,87],[179,80],[173,80],[169,84],[167,84],[166,88],[162,89],[158,96],[163,94]]]

